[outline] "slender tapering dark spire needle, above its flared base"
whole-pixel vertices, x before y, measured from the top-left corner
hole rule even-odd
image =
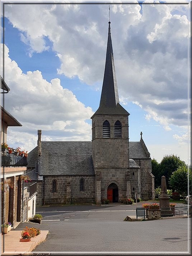
[[[109,21],[108,41],[106,53],[106,65],[103,78],[103,87],[99,107],[115,108],[119,103],[117,80],[113,59],[113,47],[111,41],[111,22]]]

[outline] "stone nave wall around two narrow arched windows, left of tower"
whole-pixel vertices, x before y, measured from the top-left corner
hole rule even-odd
[[[44,176],[44,204],[93,203],[95,201],[95,176]],[[84,191],[80,191],[80,179],[84,179]],[[52,181],[56,180],[56,192]]]

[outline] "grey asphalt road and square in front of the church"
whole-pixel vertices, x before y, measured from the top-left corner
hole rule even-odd
[[[127,215],[136,215],[135,209],[136,205],[121,204],[37,207],[36,213],[43,216],[42,224],[27,225],[38,225],[49,234],[33,252],[187,254],[188,218],[123,222]],[[17,229],[25,225],[20,223]]]

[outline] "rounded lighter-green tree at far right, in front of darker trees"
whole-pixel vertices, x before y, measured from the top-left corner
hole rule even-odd
[[[188,188],[188,168],[187,166],[179,166],[177,171],[173,172],[169,178],[170,186],[183,195],[187,194]],[[191,170],[189,169],[189,185],[191,185]]]

